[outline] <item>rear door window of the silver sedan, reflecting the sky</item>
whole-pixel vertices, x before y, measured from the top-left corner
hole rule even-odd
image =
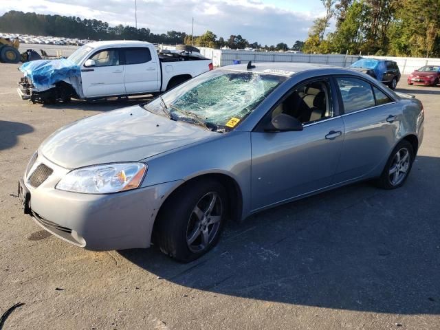
[[[336,78],[344,104],[344,113],[375,106],[373,89],[369,83],[359,78]]]

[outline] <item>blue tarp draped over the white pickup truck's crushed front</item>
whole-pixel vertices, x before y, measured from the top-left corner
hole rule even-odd
[[[54,85],[58,81],[81,74],[80,67],[67,58],[27,62],[19,69],[32,80],[35,87]]]

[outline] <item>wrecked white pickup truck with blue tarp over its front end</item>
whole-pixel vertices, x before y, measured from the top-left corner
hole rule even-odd
[[[88,43],[76,50],[67,61],[67,65],[74,69],[74,74],[72,70],[66,71],[66,65],[62,62],[60,65],[52,61],[32,63],[28,72],[20,68],[25,72],[18,89],[21,98],[51,103],[57,100],[66,102],[71,97],[91,100],[159,94],[213,69],[212,62],[198,53],[157,52],[153,44],[142,41]],[[41,69],[43,65],[49,68]],[[62,69],[65,71],[62,72]],[[39,76],[34,76],[32,70]]]

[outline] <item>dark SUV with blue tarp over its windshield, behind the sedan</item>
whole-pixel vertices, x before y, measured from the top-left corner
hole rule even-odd
[[[391,89],[395,89],[400,80],[400,70],[395,61],[361,58],[350,67],[382,81]]]

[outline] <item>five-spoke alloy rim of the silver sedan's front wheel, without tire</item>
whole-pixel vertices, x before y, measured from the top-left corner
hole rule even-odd
[[[208,192],[192,209],[186,228],[186,243],[191,252],[202,252],[217,236],[223,216],[223,203],[217,192]]]

